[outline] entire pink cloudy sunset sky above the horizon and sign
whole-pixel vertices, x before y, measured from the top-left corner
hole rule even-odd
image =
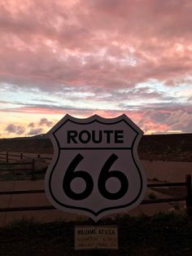
[[[0,137],[67,113],[191,132],[191,13],[190,0],[1,0]]]

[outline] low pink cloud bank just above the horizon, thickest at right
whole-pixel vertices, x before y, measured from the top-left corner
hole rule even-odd
[[[141,91],[143,92],[143,90]],[[144,93],[146,93],[145,88]],[[151,96],[152,98],[155,96],[157,99],[159,97],[159,95]],[[115,100],[117,97],[118,95],[115,97]],[[32,104],[27,105],[27,107],[13,108],[11,111],[15,113],[41,113],[44,115],[50,115],[50,113],[52,113],[52,115],[60,114],[61,117],[67,113],[74,117],[89,117],[94,114],[98,114],[102,117],[117,117],[125,113],[145,132],[148,132],[149,130],[156,130],[159,132],[166,132],[166,130],[182,130],[183,132],[191,132],[192,124],[190,120],[192,120],[192,108],[190,104],[174,104],[172,101],[166,102],[166,98],[164,99],[164,104],[162,104],[161,101],[150,103],[150,95],[148,99],[146,95],[146,104],[144,105],[137,99],[136,95],[133,99],[135,99],[134,104],[133,102],[132,104],[118,104],[116,109],[102,108],[102,106],[98,109],[75,108],[68,105]],[[10,109],[4,109],[4,111],[7,112],[10,111]],[[55,121],[43,117],[37,122],[29,123],[28,127],[33,128],[32,132],[33,130],[36,131],[38,129],[42,129],[43,132],[46,132],[46,127],[53,126],[54,124]],[[31,132],[28,132],[28,135],[31,135]]]

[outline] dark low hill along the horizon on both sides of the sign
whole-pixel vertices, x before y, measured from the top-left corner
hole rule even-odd
[[[53,153],[47,135],[0,139],[0,152]],[[141,159],[164,161],[192,161],[192,134],[144,135],[138,146]]]

